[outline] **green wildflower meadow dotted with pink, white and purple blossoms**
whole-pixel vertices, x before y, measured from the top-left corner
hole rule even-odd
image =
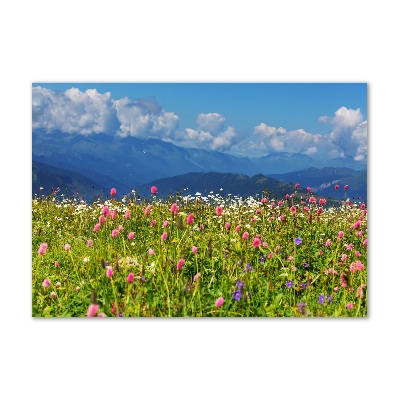
[[[365,317],[365,203],[328,207],[297,187],[282,199],[36,197],[32,316]]]

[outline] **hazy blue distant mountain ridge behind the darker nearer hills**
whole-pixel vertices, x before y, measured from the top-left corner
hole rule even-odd
[[[32,132],[32,160],[78,172],[96,185],[129,193],[133,187],[190,172],[221,172],[253,176],[290,173],[317,165],[303,154],[271,153],[238,157],[217,151],[183,148],[157,139],[81,135],[60,131]],[[340,163],[363,169],[351,159],[326,160],[320,167]],[[338,164],[338,165],[336,165]]]

